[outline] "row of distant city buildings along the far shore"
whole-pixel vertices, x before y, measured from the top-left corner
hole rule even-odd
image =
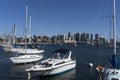
[[[25,38],[24,37],[15,37],[10,35],[3,35],[0,36],[1,42],[8,42],[8,43],[23,43]],[[53,35],[52,37],[46,35],[33,35],[28,37],[28,42],[35,42],[35,43],[109,43],[113,41],[113,39],[107,40],[104,36],[99,34],[90,34],[90,33],[75,33],[72,34],[68,32],[67,34],[57,34]],[[111,42],[112,43],[112,42]]]

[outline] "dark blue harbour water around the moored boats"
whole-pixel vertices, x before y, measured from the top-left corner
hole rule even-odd
[[[52,56],[52,52],[58,48],[68,48],[72,53],[72,58],[76,59],[76,68],[70,72],[57,75],[54,77],[35,78],[32,80],[98,80],[96,66],[103,64],[107,66],[113,52],[112,48],[103,46],[91,46],[88,44],[66,45],[42,45],[45,49],[44,59]],[[117,52],[120,50],[118,49]],[[119,56],[118,56],[119,57]],[[120,58],[119,58],[120,59]],[[120,61],[120,60],[119,60]],[[89,68],[88,64],[93,63],[94,67]],[[37,64],[39,62],[36,62]],[[30,68],[33,64],[14,65],[9,60],[8,54],[1,50],[0,53],[0,80],[27,80],[25,69]]]

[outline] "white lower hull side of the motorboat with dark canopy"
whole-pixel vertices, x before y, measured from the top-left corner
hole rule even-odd
[[[52,76],[52,75],[57,75],[57,74],[61,74],[61,73],[64,73],[64,72],[67,72],[69,70],[72,70],[74,69],[76,66],[76,62],[75,61],[71,61],[70,63],[65,63],[61,66],[56,66],[54,68],[49,68],[49,69],[46,69],[46,70],[31,70],[32,73],[32,77],[34,76]]]

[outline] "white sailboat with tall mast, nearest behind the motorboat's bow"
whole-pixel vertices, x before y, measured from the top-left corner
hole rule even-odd
[[[43,55],[37,55],[37,54],[27,54],[27,14],[28,14],[28,6],[26,6],[26,35],[25,35],[25,54],[19,54],[18,56],[11,57],[11,61],[14,64],[21,64],[21,63],[30,63],[39,61],[43,58]]]

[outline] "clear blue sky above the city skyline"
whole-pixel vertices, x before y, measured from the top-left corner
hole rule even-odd
[[[16,35],[25,29],[26,5],[31,16],[31,35],[53,36],[71,32],[110,35],[110,15],[113,0],[0,0],[0,35]],[[117,36],[120,37],[120,0],[117,6]]]

